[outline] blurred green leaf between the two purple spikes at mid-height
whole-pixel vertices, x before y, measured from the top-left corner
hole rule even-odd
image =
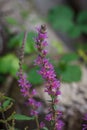
[[[37,73],[37,70],[37,67],[35,67],[28,73],[28,79],[34,85],[41,84],[43,82],[42,77]]]

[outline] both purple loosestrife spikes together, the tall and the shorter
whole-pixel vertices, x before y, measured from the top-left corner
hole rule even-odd
[[[47,115],[45,116],[45,120],[50,123],[51,130],[62,130],[63,122],[61,120],[62,113],[57,110],[58,104],[58,96],[61,94],[60,92],[60,81],[57,80],[55,70],[53,65],[49,62],[49,59],[46,58],[47,50],[44,48],[48,45],[46,26],[41,25],[40,28],[37,28],[38,36],[35,38],[36,48],[38,50],[38,57],[35,60],[35,65],[40,67],[38,73],[42,76],[45,81],[45,92],[51,97],[49,101],[49,108]],[[18,83],[20,86],[20,91],[24,97],[27,99],[27,104],[30,106],[31,111],[30,114],[35,116],[37,130],[48,130],[45,127],[44,122],[38,121],[38,108],[41,106],[41,103],[34,99],[34,96],[37,94],[35,89],[32,89],[32,85],[27,80],[26,74],[23,73],[22,64],[24,58],[24,46],[26,40],[26,32],[24,35],[24,40],[22,43],[22,47],[20,49],[20,57],[19,57],[19,72],[18,72]]]

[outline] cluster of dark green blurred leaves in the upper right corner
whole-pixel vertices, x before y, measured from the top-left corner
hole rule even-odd
[[[56,30],[66,32],[71,38],[76,38],[81,33],[87,33],[87,11],[78,14],[76,21],[74,11],[64,5],[56,6],[49,11],[48,21]]]

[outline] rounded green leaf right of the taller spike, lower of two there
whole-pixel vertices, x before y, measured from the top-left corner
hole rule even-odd
[[[65,70],[56,68],[56,72],[64,82],[78,82],[82,76],[81,69],[77,65],[67,65]]]

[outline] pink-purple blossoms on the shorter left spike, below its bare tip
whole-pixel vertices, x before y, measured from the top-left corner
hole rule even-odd
[[[21,75],[21,73],[18,73],[18,83],[20,88],[20,91],[24,97],[27,98],[27,104],[31,107],[31,115],[37,115],[38,114],[38,108],[41,106],[40,102],[37,102],[34,99],[34,96],[37,94],[35,89],[32,89],[31,84],[27,81],[27,76],[25,74]]]

